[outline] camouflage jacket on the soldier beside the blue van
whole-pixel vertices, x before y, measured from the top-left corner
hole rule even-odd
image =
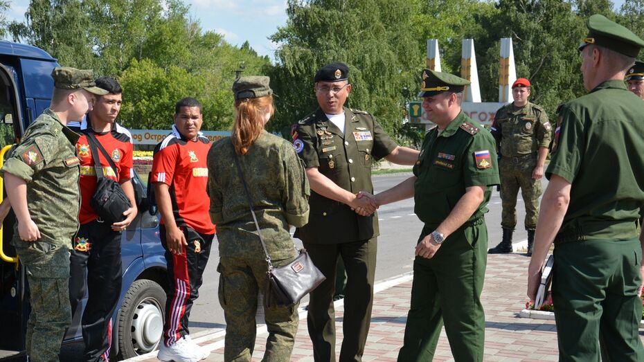
[[[80,209],[78,138],[46,109],[27,128],[1,170],[26,181],[29,214],[42,236],[70,249]]]

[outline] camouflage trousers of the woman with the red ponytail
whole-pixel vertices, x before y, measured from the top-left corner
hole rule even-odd
[[[279,267],[292,262],[295,257],[271,260]],[[217,271],[220,274],[219,300],[226,319],[224,361],[251,361],[255,349],[258,293],[266,290],[268,266],[264,259],[249,260],[222,257]],[[298,329],[299,302],[286,307],[264,305],[264,318],[268,330],[266,352],[262,361],[288,362],[291,358]]]

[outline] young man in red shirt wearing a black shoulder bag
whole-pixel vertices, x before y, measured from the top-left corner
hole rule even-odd
[[[72,315],[82,300],[86,284],[87,305],[81,325],[84,341],[83,361],[107,361],[111,342],[111,316],[114,314],[122,281],[120,260],[121,232],[136,217],[136,201],[132,187],[132,136],[116,123],[122,102],[120,84],[109,77],[96,80],[96,86],[109,93],[97,96],[87,118],[69,127],[80,133],[76,152],[80,159],[80,228],[73,241],[70,257],[69,298]],[[129,199],[131,207],[123,212],[123,221],[108,224],[89,205],[96,190],[96,170],[87,141],[93,134],[111,156],[117,170],[109,165],[105,155],[97,150],[105,177],[118,181]]]

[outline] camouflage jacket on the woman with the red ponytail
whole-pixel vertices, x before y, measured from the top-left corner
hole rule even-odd
[[[288,141],[266,131],[239,159],[267,251],[273,259],[293,257],[289,225],[303,226],[309,219],[304,165]],[[217,225],[220,256],[264,259],[231,138],[213,144],[207,163],[210,215]]]

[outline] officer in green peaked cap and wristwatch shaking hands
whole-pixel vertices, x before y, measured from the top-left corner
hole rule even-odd
[[[413,262],[401,362],[431,361],[443,323],[456,361],[483,361],[481,291],[487,265],[490,186],[499,184],[494,138],[460,109],[469,81],[424,69],[419,97],[436,123],[413,176],[376,195],[378,205],[414,197],[424,223]]]

